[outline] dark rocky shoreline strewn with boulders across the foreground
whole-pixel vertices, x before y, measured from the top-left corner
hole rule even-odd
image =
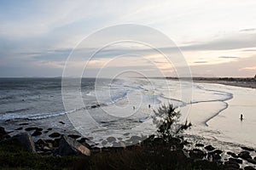
[[[65,156],[77,156],[78,158],[83,156],[85,162],[96,167],[100,166],[95,165],[96,161],[107,162],[109,159],[115,158],[116,161],[112,160],[112,163],[118,168],[115,168],[114,166],[114,168],[109,167],[111,169],[119,169],[122,168],[122,166],[127,166],[125,164],[128,163],[130,159],[133,159],[133,156],[135,156],[134,159],[137,160],[137,155],[145,156],[145,160],[143,159],[142,161],[139,161],[139,163],[140,166],[147,167],[148,169],[157,169],[160,165],[164,169],[176,166],[176,169],[250,170],[255,169],[256,167],[256,156],[252,156],[256,150],[247,147],[241,147],[242,151],[238,154],[232,152],[224,153],[223,150],[215,149],[212,145],[199,143],[192,144],[194,145],[192,149],[186,149],[184,146],[188,144],[188,142],[182,137],[173,138],[171,142],[166,143],[163,139],[157,138],[154,135],[151,135],[148,138],[131,136],[130,139],[124,141],[120,141],[114,137],[108,137],[108,139],[102,140],[103,147],[99,147],[97,144],[90,143],[90,139],[83,138],[78,134],[66,135],[56,133],[52,128],[46,129],[46,131],[51,132],[49,133],[50,139],[39,138],[38,140],[33,141],[32,136],[40,136],[45,130],[40,127],[26,127],[25,130],[27,133],[18,133],[11,137],[9,133],[5,131],[4,127],[0,127],[0,146],[4,144],[21,144],[27,152],[40,156],[61,156],[63,158]],[[112,144],[112,147],[105,147],[104,144]],[[126,154],[131,155],[128,160],[126,160],[127,158],[122,157]],[[224,158],[223,155],[228,155],[229,157]],[[159,160],[159,156],[166,161]],[[5,163],[9,162],[9,160],[5,160],[3,156],[0,157],[2,157],[0,159],[0,167],[11,166],[6,165]],[[148,159],[150,158],[153,159],[151,160],[151,163],[156,167],[152,167],[153,165],[150,166],[150,163],[148,164]],[[122,161],[122,163],[119,161]],[[181,165],[182,162],[188,162],[188,165]],[[98,163],[102,164],[102,162]],[[133,162],[132,164],[137,165],[137,162]],[[137,167],[134,169],[141,168]]]

